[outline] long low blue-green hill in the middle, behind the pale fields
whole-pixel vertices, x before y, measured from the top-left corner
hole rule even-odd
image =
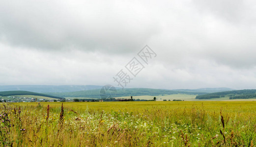
[[[159,96],[159,95],[172,95],[172,94],[189,94],[189,95],[202,95],[210,93],[213,90],[165,90],[165,89],[149,89],[149,88],[126,88],[117,89],[116,97],[127,96]],[[217,91],[221,91],[218,89]],[[68,93],[46,93],[49,95],[63,97],[63,98],[100,98],[100,89],[86,90]]]

